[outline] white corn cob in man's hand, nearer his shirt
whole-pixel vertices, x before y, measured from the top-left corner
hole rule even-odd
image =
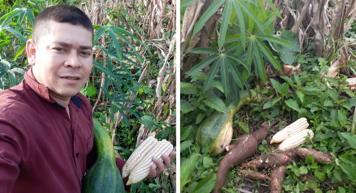
[[[138,163],[143,159],[143,157],[150,152],[150,150],[156,146],[157,140],[155,137],[147,137],[145,141],[142,142],[140,146],[132,152],[129,159],[126,161],[124,167],[122,167],[122,178],[126,178],[131,173],[132,169],[137,166]]]

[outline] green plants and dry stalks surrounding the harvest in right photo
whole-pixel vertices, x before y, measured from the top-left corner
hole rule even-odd
[[[251,159],[275,153],[272,136],[301,117],[315,137],[300,147],[333,156],[326,164],[310,157],[293,162],[284,192],[356,192],[355,16],[355,0],[180,1],[180,192],[215,188],[225,154],[210,156],[195,131],[215,111],[237,104],[241,90],[257,100],[234,115],[232,142],[278,122]],[[211,126],[211,133],[219,129]],[[268,181],[238,169],[221,192],[269,192]]]

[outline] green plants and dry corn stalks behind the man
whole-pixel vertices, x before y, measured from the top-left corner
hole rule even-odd
[[[93,22],[94,65],[80,92],[108,130],[116,157],[127,160],[150,135],[176,149],[175,0],[0,0],[0,92],[22,81],[35,17],[57,4],[77,6]],[[176,159],[130,192],[176,192]]]

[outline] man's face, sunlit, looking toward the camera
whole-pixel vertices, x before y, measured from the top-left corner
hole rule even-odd
[[[57,98],[74,96],[91,72],[92,45],[92,34],[84,27],[51,21],[49,33],[36,42],[37,81]]]

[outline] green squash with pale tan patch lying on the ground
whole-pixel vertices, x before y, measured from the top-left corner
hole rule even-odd
[[[256,94],[251,94],[251,97],[255,98]],[[226,113],[216,111],[206,118],[195,133],[195,142],[200,148],[208,146],[210,156],[224,152],[232,140],[232,118],[247,101],[250,101],[247,91],[241,91],[239,104],[232,102],[227,106]]]

